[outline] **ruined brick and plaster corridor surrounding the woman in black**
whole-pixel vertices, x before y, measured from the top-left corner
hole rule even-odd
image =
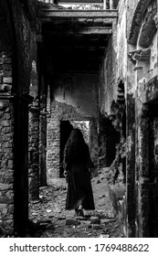
[[[0,1],[0,237],[158,237],[157,0]],[[96,209],[65,210],[79,128]]]

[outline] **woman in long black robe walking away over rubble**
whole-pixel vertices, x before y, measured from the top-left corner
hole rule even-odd
[[[90,183],[90,168],[94,167],[88,144],[79,129],[73,129],[64,150],[64,165],[68,180],[66,209],[75,209],[83,216],[84,209],[94,209]]]

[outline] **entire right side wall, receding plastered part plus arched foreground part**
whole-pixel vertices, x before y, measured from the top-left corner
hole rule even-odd
[[[100,112],[111,117],[113,125],[121,132],[121,141],[123,139],[125,142],[126,190],[123,203],[120,204],[120,212],[123,214],[120,219],[127,237],[157,234],[157,211],[154,207],[153,212],[150,210],[153,200],[157,205],[157,189],[153,184],[153,179],[156,179],[156,132],[152,132],[156,129],[152,123],[156,122],[157,114],[154,111],[155,105],[151,106],[158,99],[157,32],[154,25],[156,3],[157,1],[153,1],[151,4],[145,0],[120,1],[116,62],[109,59],[113,50],[111,41],[109,54],[104,59],[100,72]],[[148,41],[145,39],[147,37]],[[114,85],[112,65],[117,68]],[[122,91],[121,84],[124,86]],[[143,103],[147,101],[149,106],[146,109]],[[122,119],[124,111],[125,123]],[[107,137],[104,139],[107,144]],[[112,164],[115,170],[118,164],[119,161],[115,159]]]

